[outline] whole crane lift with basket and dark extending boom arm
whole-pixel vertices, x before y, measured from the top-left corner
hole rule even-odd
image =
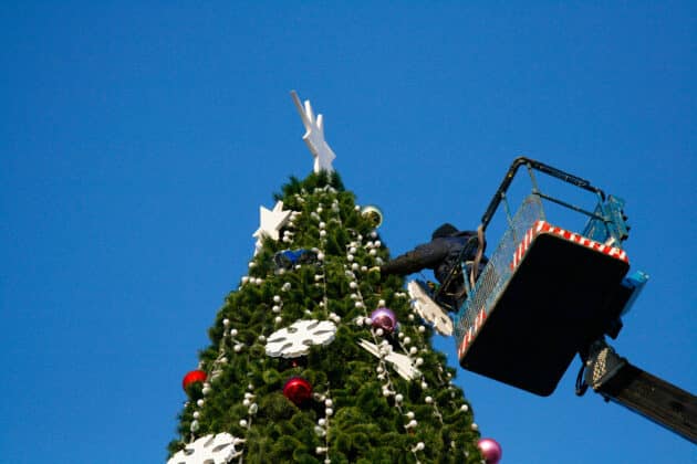
[[[531,189],[512,212],[508,192],[521,167]],[[537,173],[593,196],[594,209],[543,192]],[[517,158],[481,219],[479,239],[462,255],[478,247],[481,256],[483,235],[501,204],[506,223],[488,263],[481,273],[477,264],[462,265],[471,271],[464,278],[467,298],[455,316],[460,366],[547,397],[579,354],[583,363],[578,394],[590,386],[606,401],[697,443],[697,398],[631,365],[605,341],[606,336],[617,337],[622,316],[648,278],[642,271],[630,273],[622,246],[630,233],[624,201],[587,180]],[[545,207],[552,205],[569,218],[581,218],[581,225],[562,229],[549,222]]]

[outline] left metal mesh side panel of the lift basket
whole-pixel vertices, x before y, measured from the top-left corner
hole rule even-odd
[[[498,247],[490,256],[489,263],[487,263],[475,288],[468,295],[456,317],[455,334],[458,340],[461,340],[469,327],[475,325],[477,315],[482,308],[485,314],[489,315],[496,298],[512,275],[510,264],[520,239],[535,221],[541,219],[544,219],[544,210],[540,197],[537,194],[528,196],[516,215],[509,219],[509,226]]]

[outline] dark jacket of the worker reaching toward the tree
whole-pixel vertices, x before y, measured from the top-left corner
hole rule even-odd
[[[459,264],[458,259],[470,261],[475,259],[476,245],[471,253],[460,257],[460,252],[470,238],[476,238],[477,232],[458,232],[452,236],[440,236],[429,243],[418,245],[416,249],[383,264],[382,274],[407,275],[425,268],[434,271],[434,275],[441,284],[448,277],[450,270]]]

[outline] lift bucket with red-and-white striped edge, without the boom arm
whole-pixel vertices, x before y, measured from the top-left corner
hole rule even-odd
[[[455,335],[465,369],[549,396],[576,352],[603,334],[617,335],[620,315],[641,286],[625,278],[623,202],[538,161],[513,162],[482,218],[482,230],[520,166],[528,167],[532,193],[509,215],[503,238],[456,316]],[[595,211],[540,192],[533,169],[594,192]],[[586,214],[586,226],[572,232],[547,222],[542,200]]]

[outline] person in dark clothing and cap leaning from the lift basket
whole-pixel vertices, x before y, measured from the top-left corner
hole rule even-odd
[[[465,250],[468,243],[470,246]],[[462,254],[464,251],[465,254]],[[414,250],[384,263],[379,266],[379,272],[381,275],[408,275],[425,268],[433,270],[436,280],[444,286],[437,293],[436,303],[448,310],[457,312],[467,298],[460,264],[469,262],[466,266],[469,275],[477,251],[477,232],[459,231],[455,225],[445,223],[434,231],[430,242],[418,245]],[[477,274],[487,261],[482,255],[478,263],[480,265],[478,265]],[[450,276],[450,274],[452,275]],[[433,293],[433,287],[430,291]]]

